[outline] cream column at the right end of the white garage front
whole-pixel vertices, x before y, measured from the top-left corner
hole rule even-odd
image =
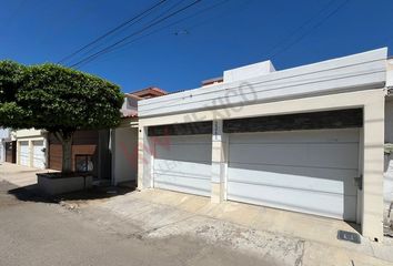
[[[384,95],[364,105],[362,234],[383,241]]]

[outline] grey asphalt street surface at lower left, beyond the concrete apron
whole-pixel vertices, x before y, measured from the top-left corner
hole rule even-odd
[[[143,239],[137,234],[118,234],[60,204],[19,201],[8,193],[13,188],[0,182],[2,266],[275,265],[188,236]],[[18,195],[30,198],[21,191]]]

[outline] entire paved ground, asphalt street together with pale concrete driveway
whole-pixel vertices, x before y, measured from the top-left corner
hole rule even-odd
[[[0,265],[357,266],[393,262],[389,262],[392,246],[333,241],[332,228],[344,226],[341,223],[314,223],[310,216],[241,204],[212,205],[203,197],[162,191],[109,193],[90,201],[73,194],[52,201],[34,194],[33,173],[0,165],[0,180],[8,181],[0,181]],[[21,185],[26,188],[18,188]],[[264,216],[279,216],[286,226]],[[321,229],[328,232],[316,232]],[[315,241],[319,234],[322,237]]]

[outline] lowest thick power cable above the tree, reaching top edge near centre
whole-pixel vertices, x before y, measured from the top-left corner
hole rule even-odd
[[[124,37],[124,38],[122,38],[121,40],[119,40],[119,41],[112,43],[111,45],[109,45],[109,47],[107,47],[107,48],[104,48],[104,49],[101,49],[100,51],[98,51],[98,52],[91,54],[90,57],[84,58],[84,59],[78,61],[77,63],[72,64],[71,68],[78,66],[78,65],[80,65],[81,63],[87,62],[87,61],[89,61],[89,62],[93,61],[93,60],[97,59],[98,57],[110,52],[110,50],[111,50],[112,48],[118,47],[119,44],[123,43],[123,42],[127,41],[128,39],[130,39],[130,38],[137,35],[137,34],[139,34],[139,33],[142,33],[142,32],[145,31],[145,30],[149,30],[150,28],[152,28],[152,27],[154,27],[154,25],[157,25],[157,24],[159,24],[159,23],[165,21],[167,19],[169,19],[169,18],[171,18],[171,17],[173,17],[173,16],[175,16],[175,14],[178,14],[178,13],[180,13],[180,12],[182,12],[182,11],[184,11],[184,10],[187,10],[187,9],[189,9],[189,8],[191,8],[191,7],[193,7],[193,6],[195,6],[196,3],[201,2],[201,1],[202,1],[202,0],[195,0],[195,1],[193,1],[192,3],[190,3],[190,4],[188,4],[188,6],[185,6],[185,7],[181,8],[181,9],[178,9],[177,11],[173,11],[172,13],[170,13],[170,14],[168,14],[168,16],[165,16],[165,17],[159,19],[159,20],[155,20],[154,22],[152,22],[152,23],[145,25],[144,28],[140,29],[139,31],[135,31],[135,32],[133,32],[133,33],[131,33],[131,34],[129,34],[129,35],[127,35],[127,37]]]

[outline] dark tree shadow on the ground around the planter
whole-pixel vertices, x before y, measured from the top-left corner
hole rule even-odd
[[[16,198],[23,202],[60,203],[62,201],[104,200],[118,195],[124,195],[133,192],[134,190],[134,187],[125,186],[93,186],[92,188],[84,191],[52,196],[43,194],[38,190],[37,184],[34,184],[9,190],[8,194],[13,195]]]

